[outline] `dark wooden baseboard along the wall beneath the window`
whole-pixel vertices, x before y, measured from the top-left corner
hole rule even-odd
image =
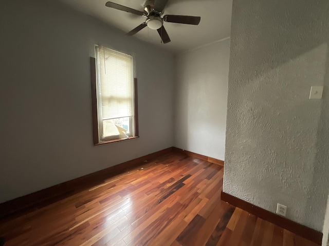
[[[85,176],[60,183],[22,197],[15,198],[0,204],[0,219],[21,215],[42,208],[51,203],[79,193],[92,186],[100,185],[104,179],[117,175],[126,170],[143,165],[145,160],[151,160],[158,156],[173,151],[173,147],[154,152],[119,165],[87,174]]]

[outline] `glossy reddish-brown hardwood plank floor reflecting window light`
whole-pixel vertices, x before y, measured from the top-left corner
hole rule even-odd
[[[172,152],[7,218],[10,245],[317,245],[221,201],[223,168]]]

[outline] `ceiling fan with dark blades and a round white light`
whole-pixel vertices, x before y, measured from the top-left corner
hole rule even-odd
[[[106,7],[118,9],[121,11],[125,11],[128,13],[137,14],[141,17],[146,17],[146,21],[140,24],[138,27],[131,30],[127,35],[132,36],[142,30],[144,27],[148,26],[150,29],[157,30],[163,44],[167,44],[170,42],[169,35],[163,27],[163,22],[171,22],[171,23],[181,23],[181,24],[189,24],[189,25],[198,25],[200,23],[201,17],[199,16],[187,16],[187,15],[164,15],[163,9],[165,9],[168,0],[147,0],[144,3],[144,11],[139,11],[135,9],[131,9],[129,7],[125,7],[116,3],[107,2],[105,4]]]

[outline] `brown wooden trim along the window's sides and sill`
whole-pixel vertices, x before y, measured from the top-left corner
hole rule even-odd
[[[137,78],[134,78],[134,127],[135,136],[128,137],[125,139],[111,139],[111,140],[101,140],[99,138],[99,125],[98,125],[98,107],[97,107],[97,68],[96,68],[96,58],[90,57],[90,80],[92,81],[92,118],[93,118],[93,141],[94,145],[103,145],[110,142],[118,142],[123,140],[135,139],[139,137],[138,131],[138,97],[137,97]]]

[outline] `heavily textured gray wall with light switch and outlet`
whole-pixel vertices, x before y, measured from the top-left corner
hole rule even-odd
[[[223,190],[322,231],[329,188],[329,2],[234,0]],[[311,86],[325,86],[309,100]]]

